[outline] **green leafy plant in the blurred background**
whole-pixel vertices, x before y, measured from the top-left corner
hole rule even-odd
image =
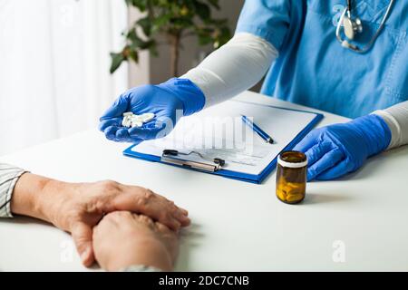
[[[212,43],[217,49],[230,38],[227,19],[216,19],[212,9],[219,10],[219,0],[125,0],[128,6],[139,9],[144,16],[138,19],[123,33],[126,43],[119,53],[111,53],[111,73],[121,63],[138,63],[139,53],[149,50],[158,56],[158,39],[164,36],[170,44],[171,75],[177,76],[180,58],[181,40],[184,37],[197,36],[200,45]]]

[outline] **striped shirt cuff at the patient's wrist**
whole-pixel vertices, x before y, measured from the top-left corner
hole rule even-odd
[[[0,218],[13,218],[10,201],[15,183],[24,172],[24,169],[0,163]]]

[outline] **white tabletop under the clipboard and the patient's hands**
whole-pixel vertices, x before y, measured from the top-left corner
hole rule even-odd
[[[252,92],[238,99],[307,109]],[[319,126],[339,121],[347,119],[325,113]],[[407,146],[370,159],[345,179],[309,183],[296,206],[277,200],[275,171],[263,184],[249,184],[126,158],[127,146],[84,131],[0,160],[66,181],[140,185],[188,208],[193,224],[182,233],[177,270],[408,270]],[[333,259],[337,240],[345,262]],[[0,271],[15,270],[87,269],[63,231],[31,218],[3,219]]]

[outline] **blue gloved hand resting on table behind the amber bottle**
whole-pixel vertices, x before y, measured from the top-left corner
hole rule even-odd
[[[372,114],[311,131],[294,150],[306,153],[308,181],[328,180],[359,169],[368,157],[385,150],[390,141],[388,125]]]

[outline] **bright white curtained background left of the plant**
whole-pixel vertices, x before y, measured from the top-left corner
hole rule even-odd
[[[127,21],[123,0],[0,0],[0,155],[96,128]]]

